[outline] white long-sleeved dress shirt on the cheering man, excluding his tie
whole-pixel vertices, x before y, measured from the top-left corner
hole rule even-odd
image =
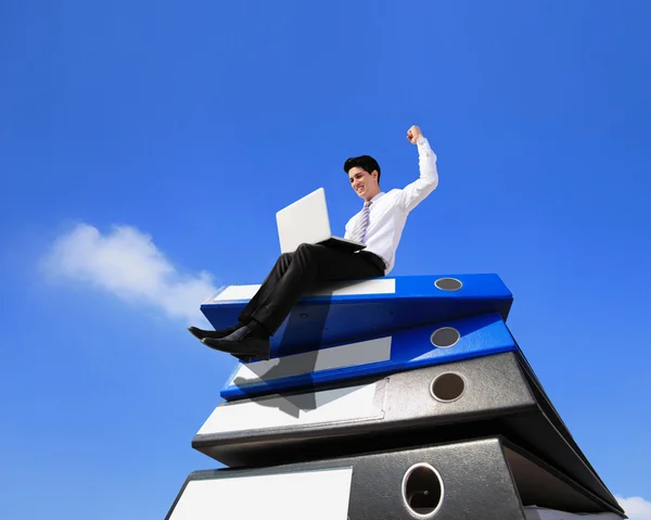
[[[396,261],[396,250],[403,236],[409,213],[438,186],[436,154],[424,137],[417,141],[420,177],[405,188],[381,191],[370,205],[369,226],[366,233],[366,249],[384,259],[384,275],[388,275]],[[361,211],[346,224],[345,238],[349,238]]]

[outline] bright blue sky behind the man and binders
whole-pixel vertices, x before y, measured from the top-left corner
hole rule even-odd
[[[649,2],[0,12],[3,517],[163,518],[215,467],[190,441],[232,368],[186,330],[201,301],[260,282],[316,188],[343,234],[346,157],[414,179],[416,124],[441,183],[392,276],[499,274],[560,415],[651,518]]]

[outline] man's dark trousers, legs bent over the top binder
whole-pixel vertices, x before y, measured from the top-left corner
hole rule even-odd
[[[246,324],[255,318],[271,335],[312,283],[384,276],[384,262],[367,252],[350,253],[326,245],[301,244],[283,253],[257,293],[240,314]]]

